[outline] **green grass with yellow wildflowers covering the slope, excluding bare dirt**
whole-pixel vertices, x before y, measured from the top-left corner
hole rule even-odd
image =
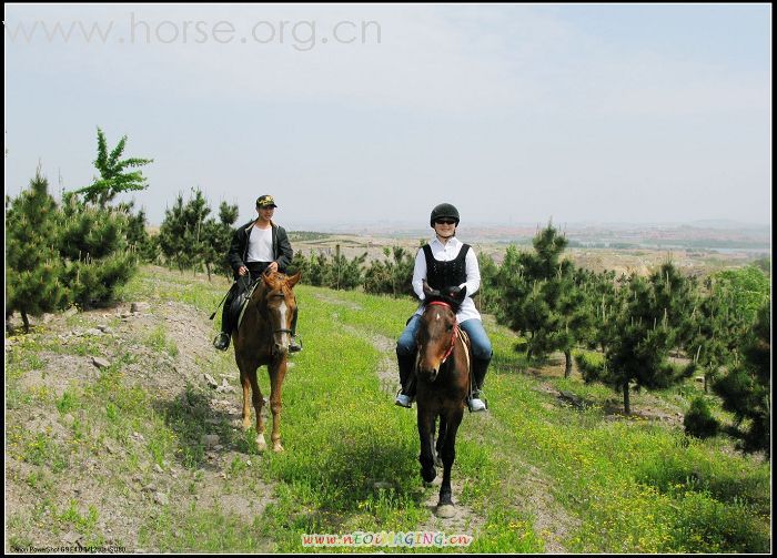
[[[173,301],[210,314],[229,282],[209,284],[203,278],[147,267],[122,296],[125,302],[149,301],[151,312]],[[6,363],[8,408],[17,417],[34,407],[67,427],[62,439],[49,432],[30,434],[21,420],[7,423],[7,454],[36,467],[9,481],[22,483],[39,496],[37,521],[52,517],[51,529],[73,529],[90,541],[104,538],[98,527],[101,506],[67,499],[54,504],[51,498],[78,463],[89,456],[105,458],[104,444],[111,443],[125,454],[109,457],[114,469],[102,479],[108,494],[132,491],[128,478],[149,478],[150,466],[183,468],[180,493],[171,494],[168,505],[138,509],[139,545],[160,551],[543,552],[549,534],[538,527],[542,514],[568,519],[555,541],[571,552],[769,549],[768,463],[733,453],[725,438],[700,442],[685,436],[682,427],[613,419],[605,407],[617,394],[585,385],[576,374],[568,379],[545,374],[545,368],[536,377],[526,374],[525,359],[513,351],[518,338],[493,324],[487,325],[495,349],[486,379],[491,410],[487,419],[465,416],[453,471],[454,500],[471,509],[473,524],[464,532],[474,535],[473,544],[444,549],[303,547],[305,534],[414,531],[431,521],[425,504],[437,488],[421,483],[415,413],[395,407],[381,390],[375,371],[384,355],[371,343],[374,335],[396,338],[415,303],[305,285],[295,291],[305,349],[294,356],[283,386],[282,454],[260,455],[253,428],[235,430],[225,417],[214,423],[212,394],[202,386],[182,384],[179,396],[170,399],[128,382],[122,371],[134,362],[130,353],[92,383],[71,385],[59,396],[23,387],[27,373],[44,367],[38,354],[50,351],[51,343],[36,332],[14,344]],[[138,341],[160,355],[176,355],[161,325]],[[60,351],[90,354],[108,343],[93,337]],[[199,364],[202,372],[225,374],[239,387],[231,351],[214,352]],[[264,369],[260,384],[269,397]],[[543,385],[572,390],[593,405],[585,410],[556,405]],[[665,394],[634,394],[632,404],[636,412],[656,402],[683,408],[686,397],[698,390],[689,383]],[[239,402],[242,396],[239,389],[216,397]],[[72,420],[64,423],[65,417]],[[268,439],[271,426],[269,420]],[[134,433],[143,443],[131,443]],[[218,480],[219,494],[249,501],[271,496],[263,513],[249,518],[219,504],[192,504],[193,496],[214,483],[212,477],[205,480],[211,465],[201,443],[204,434],[218,434],[234,453],[224,465],[226,478]],[[557,509],[541,509],[544,500],[533,504],[528,497],[538,478]],[[553,517],[545,519],[545,529],[548,523],[554,525]],[[11,515],[9,540],[32,542],[27,527]]]

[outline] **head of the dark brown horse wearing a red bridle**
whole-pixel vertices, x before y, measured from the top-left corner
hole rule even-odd
[[[453,352],[458,334],[456,312],[466,297],[466,286],[448,287],[442,291],[430,287],[424,282],[424,313],[417,334],[417,374],[428,383],[437,378],[440,368]]]

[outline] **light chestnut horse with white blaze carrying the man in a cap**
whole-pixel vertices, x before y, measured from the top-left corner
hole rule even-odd
[[[249,408],[249,388],[256,412],[256,445],[259,450],[266,449],[264,442],[264,419],[262,418],[262,392],[256,379],[256,368],[268,365],[270,372],[270,409],[272,410],[273,450],[283,452],[281,445],[281,386],[286,375],[286,359],[291,343],[291,324],[296,298],[293,287],[300,281],[300,273],[286,276],[271,272],[262,274],[251,295],[243,322],[234,336],[234,357],[240,368],[240,382],[243,384],[243,428],[251,427]]]

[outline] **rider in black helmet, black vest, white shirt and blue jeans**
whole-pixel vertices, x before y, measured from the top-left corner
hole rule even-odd
[[[474,386],[472,397],[467,398],[467,405],[471,412],[480,412],[486,409],[481,392],[493,353],[488,335],[483,328],[481,314],[471,298],[481,286],[477,256],[468,244],[456,239],[458,221],[458,210],[450,203],[441,203],[432,210],[430,225],[434,229],[435,236],[418,251],[415,257],[413,290],[423,301],[426,296],[424,282],[433,290],[447,290],[454,294],[466,287],[466,297],[456,313],[456,321],[472,342]],[[415,398],[416,335],[423,310],[421,305],[413,314],[396,343],[402,389],[396,396],[395,404],[401,407],[412,407]]]

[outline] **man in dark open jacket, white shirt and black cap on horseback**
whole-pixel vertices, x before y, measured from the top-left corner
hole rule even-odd
[[[219,351],[230,346],[232,331],[238,325],[240,307],[244,294],[262,273],[284,273],[291,264],[294,252],[289,243],[285,229],[273,221],[275,201],[272,195],[262,195],[256,200],[259,217],[239,227],[232,236],[228,260],[234,271],[235,283],[228,293],[221,316],[221,333],[213,341]],[[248,276],[246,276],[248,275]],[[302,347],[296,343],[296,317],[292,318],[292,342],[290,353],[297,353]]]

